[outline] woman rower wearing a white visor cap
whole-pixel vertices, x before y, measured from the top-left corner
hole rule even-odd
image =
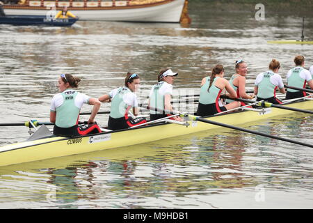
[[[170,68],[162,69],[158,75],[158,83],[152,86],[149,95],[149,106],[155,109],[165,110],[173,112],[172,105],[170,104],[172,98],[172,84],[175,77],[178,75],[177,72],[172,72]],[[158,112],[150,110],[150,121],[157,120],[159,118],[165,118],[172,116],[172,114],[166,114],[166,112]],[[179,116],[170,118],[176,121],[182,121]]]

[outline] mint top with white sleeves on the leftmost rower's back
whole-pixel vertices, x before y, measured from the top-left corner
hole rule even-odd
[[[79,111],[83,104],[89,103],[90,97],[72,89],[54,95],[51,101],[51,112],[56,112],[56,125],[60,128],[70,128],[77,125]]]

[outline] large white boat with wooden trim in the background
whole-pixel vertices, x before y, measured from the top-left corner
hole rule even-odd
[[[49,16],[67,6],[80,20],[181,22],[188,17],[187,4],[188,0],[19,0],[3,8],[7,15]]]

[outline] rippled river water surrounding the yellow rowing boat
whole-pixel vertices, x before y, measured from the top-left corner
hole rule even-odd
[[[313,64],[312,45],[271,45],[299,39],[302,17],[218,13],[190,4],[190,26],[86,22],[70,28],[0,25],[0,123],[49,121],[51,98],[63,72],[81,77],[93,97],[122,86],[127,72],[141,76],[141,100],[161,68],[179,72],[175,94],[199,93],[216,63],[225,75],[248,63],[246,89],[281,63],[283,79],[297,54]],[[249,13],[250,12],[250,13]],[[305,36],[313,36],[306,17]],[[102,105],[102,111],[109,110]],[[189,107],[189,110],[195,107]],[[84,112],[90,107],[83,107]],[[88,117],[81,117],[88,118]],[[106,125],[107,116],[97,116]],[[312,115],[241,125],[313,144]],[[0,145],[29,137],[23,127],[1,127]],[[140,136],[138,136],[140,137]],[[284,141],[220,128],[175,139],[97,153],[0,167],[0,208],[313,208],[313,151]]]

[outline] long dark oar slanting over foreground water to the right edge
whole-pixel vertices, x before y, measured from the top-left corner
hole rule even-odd
[[[203,123],[209,123],[211,125],[218,125],[218,126],[222,126],[222,127],[225,127],[225,128],[231,128],[233,130],[239,130],[239,131],[242,131],[242,132],[249,132],[251,134],[258,134],[258,135],[261,135],[262,137],[268,137],[268,138],[272,138],[272,139],[288,141],[288,142],[290,142],[292,144],[298,144],[298,145],[301,145],[301,146],[307,146],[307,147],[313,148],[312,144],[305,144],[305,143],[300,142],[300,141],[295,141],[295,140],[292,140],[292,139],[286,139],[286,138],[282,138],[282,137],[277,137],[277,136],[272,135],[272,134],[266,134],[266,133],[263,133],[263,132],[257,132],[257,131],[254,131],[254,130],[248,130],[246,128],[239,128],[239,127],[236,127],[234,125],[227,125],[227,124],[224,124],[224,123],[218,123],[216,121],[211,121],[211,120],[208,120],[208,119],[204,119],[204,118],[201,118],[199,116],[193,116],[193,115],[188,115],[188,116],[191,117],[195,121],[201,121]]]

